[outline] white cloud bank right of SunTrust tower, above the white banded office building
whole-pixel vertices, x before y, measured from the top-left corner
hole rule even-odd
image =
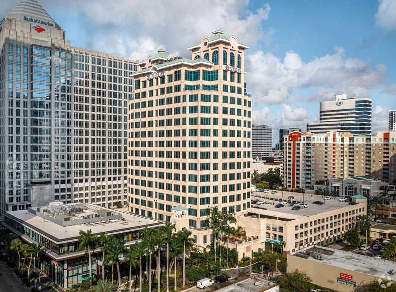
[[[316,57],[308,63],[293,51],[287,52],[283,61],[271,52],[247,55],[247,85],[254,105],[332,100],[335,94],[343,92],[348,97],[370,97],[371,89],[385,83],[383,64],[372,69],[366,62],[346,56],[343,48],[334,50],[334,54]],[[317,94],[299,96],[298,89],[307,88],[317,90]]]

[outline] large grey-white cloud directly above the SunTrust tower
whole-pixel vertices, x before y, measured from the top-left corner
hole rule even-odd
[[[70,0],[67,4],[68,10],[74,10],[85,19],[85,45],[118,55],[123,50],[114,44],[122,40],[123,56],[132,56],[136,60],[155,54],[160,47],[172,54],[181,50],[189,57],[187,47],[218,29],[249,45],[264,38],[270,41],[273,34],[269,31],[267,36],[261,25],[268,19],[271,7],[262,4],[256,11],[251,11],[249,0],[90,0],[83,4],[79,0]],[[55,5],[64,7],[65,4]]]

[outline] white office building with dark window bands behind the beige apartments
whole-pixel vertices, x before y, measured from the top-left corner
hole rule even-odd
[[[308,123],[307,131],[325,134],[329,131],[349,132],[353,135],[371,135],[371,99],[347,99],[345,93],[334,101],[320,103],[318,123]]]

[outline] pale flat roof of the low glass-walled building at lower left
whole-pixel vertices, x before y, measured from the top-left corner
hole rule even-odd
[[[91,206],[96,206],[94,204],[86,204]],[[62,227],[58,224],[52,223],[46,219],[43,219],[39,216],[33,215],[27,210],[18,210],[18,211],[7,211],[5,212],[5,216],[15,219],[22,223],[24,226],[36,231],[40,235],[47,237],[55,243],[65,243],[75,241],[79,236],[79,231],[84,230],[87,231],[89,229],[92,230],[92,234],[99,235],[100,232],[107,232],[109,234],[117,234],[124,233],[129,231],[140,230],[147,227],[157,227],[161,226],[164,223],[161,221],[157,221],[154,219],[149,219],[145,217],[141,217],[135,214],[125,213],[122,211],[117,211],[117,209],[110,209],[105,207],[100,207],[101,209],[111,210],[115,213],[120,213],[124,218],[123,221],[117,220],[116,222],[101,222],[97,224],[79,224],[72,226]],[[14,229],[12,226],[9,226],[3,223],[7,228]]]

